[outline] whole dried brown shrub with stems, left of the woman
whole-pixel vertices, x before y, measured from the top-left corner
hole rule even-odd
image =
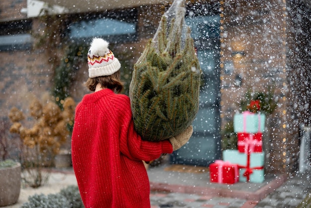
[[[63,110],[51,99],[46,102],[34,99],[29,106],[33,118],[31,128],[26,127],[26,122],[21,123],[25,114],[16,107],[11,108],[8,114],[13,123],[10,132],[19,134],[22,142],[22,179],[30,187],[40,187],[48,180],[49,174],[43,168],[52,166],[61,145],[70,139],[68,127],[73,126],[75,106],[70,97],[65,99]]]

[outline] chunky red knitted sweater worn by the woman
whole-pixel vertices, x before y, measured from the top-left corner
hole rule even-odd
[[[85,95],[76,108],[72,160],[86,208],[150,208],[142,160],[171,153],[168,140],[144,141],[134,130],[130,99],[109,89]]]

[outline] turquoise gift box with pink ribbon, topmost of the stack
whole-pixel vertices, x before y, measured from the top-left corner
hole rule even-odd
[[[258,133],[265,128],[265,115],[244,111],[233,116],[234,132]]]

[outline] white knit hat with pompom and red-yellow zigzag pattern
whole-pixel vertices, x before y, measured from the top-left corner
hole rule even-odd
[[[121,68],[119,60],[108,49],[109,43],[94,38],[87,53],[88,77],[109,76]]]

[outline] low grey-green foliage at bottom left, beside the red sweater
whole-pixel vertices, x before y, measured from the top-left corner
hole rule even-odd
[[[78,186],[68,186],[58,194],[33,195],[21,208],[84,208]]]

